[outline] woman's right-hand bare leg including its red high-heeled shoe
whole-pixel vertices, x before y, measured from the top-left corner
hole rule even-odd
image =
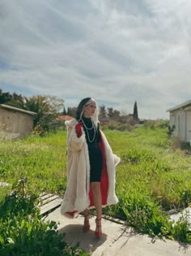
[[[102,197],[100,190],[100,182],[91,182],[91,189],[94,198],[94,205],[96,207],[96,232],[101,234],[101,215],[102,215]]]

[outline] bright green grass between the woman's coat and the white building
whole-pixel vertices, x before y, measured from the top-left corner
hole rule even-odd
[[[106,132],[113,151],[121,157],[117,167],[117,193],[136,191],[163,209],[182,208],[191,202],[191,157],[172,150],[165,129],[137,128],[132,132]]]

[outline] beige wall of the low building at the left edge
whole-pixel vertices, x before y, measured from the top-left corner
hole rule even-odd
[[[12,139],[23,137],[32,131],[33,117],[19,111],[6,110],[0,107],[1,137]]]

